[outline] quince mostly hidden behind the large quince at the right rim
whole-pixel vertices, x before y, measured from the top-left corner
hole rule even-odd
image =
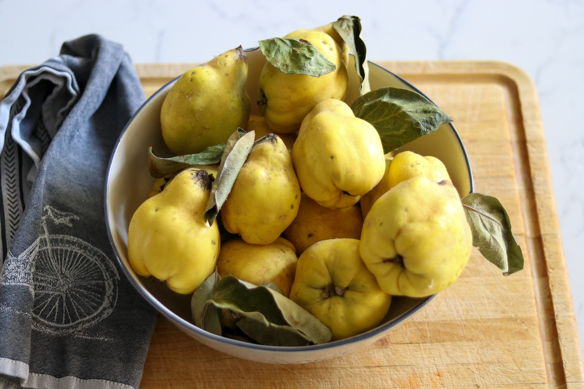
[[[422,156],[409,150],[397,154],[385,155],[385,173],[375,187],[361,197],[361,213],[363,218],[371,209],[371,205],[385,192],[395,187],[402,181],[412,177],[423,176],[439,183],[442,180],[450,180],[446,166],[441,160],[433,156]]]

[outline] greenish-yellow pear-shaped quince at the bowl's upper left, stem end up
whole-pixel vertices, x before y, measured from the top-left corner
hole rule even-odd
[[[243,128],[251,110],[247,77],[248,61],[241,47],[183,73],[160,113],[168,148],[176,155],[198,153]]]

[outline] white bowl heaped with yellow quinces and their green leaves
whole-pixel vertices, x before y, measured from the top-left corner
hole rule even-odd
[[[367,61],[359,17],[236,47],[161,87],[110,159],[106,222],[135,289],[219,351],[303,363],[388,335],[473,246],[523,266],[473,192],[453,118]]]

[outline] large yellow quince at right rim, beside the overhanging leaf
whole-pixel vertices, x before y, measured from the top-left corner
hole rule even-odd
[[[361,258],[391,295],[425,297],[447,288],[463,271],[471,248],[471,229],[454,185],[421,176],[381,195],[361,231]]]

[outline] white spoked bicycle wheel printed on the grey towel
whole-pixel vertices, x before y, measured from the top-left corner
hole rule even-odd
[[[33,327],[55,335],[95,324],[112,313],[119,275],[110,258],[84,240],[41,236],[33,274]]]

